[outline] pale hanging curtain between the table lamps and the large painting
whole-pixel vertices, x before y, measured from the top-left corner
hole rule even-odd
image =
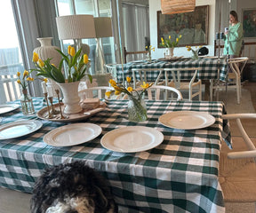
[[[124,46],[127,51],[145,51],[149,39],[147,5],[123,4]]]

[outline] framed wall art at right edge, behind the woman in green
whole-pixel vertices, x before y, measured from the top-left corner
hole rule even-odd
[[[243,10],[244,37],[256,37],[256,8]]]

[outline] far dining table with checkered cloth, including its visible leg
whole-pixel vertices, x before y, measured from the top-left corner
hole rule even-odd
[[[199,57],[198,59],[183,58],[183,57],[173,57],[172,59],[152,59],[148,60],[137,60],[131,61],[126,64],[116,65],[116,81],[124,82],[126,76],[132,76],[133,68],[190,68],[190,67],[201,67],[197,71],[196,78],[201,79],[205,84],[204,100],[211,100],[209,97],[212,97],[210,94],[210,84],[213,81],[227,81],[228,75],[228,63],[225,57]],[[140,74],[135,73],[136,78],[140,79]],[[180,80],[190,80],[194,75],[194,72],[191,70],[182,71],[180,73]],[[148,73],[147,80],[148,82],[155,82],[158,76],[157,71],[152,71]],[[164,72],[159,78],[159,83],[164,81]]]

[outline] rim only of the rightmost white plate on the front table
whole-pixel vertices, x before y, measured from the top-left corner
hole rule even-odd
[[[198,125],[198,126],[191,126],[191,127],[177,127],[177,126],[172,126],[168,123],[165,123],[163,121],[163,119],[165,119],[165,117],[170,117],[170,116],[175,116],[175,115],[182,115],[182,114],[190,114],[191,116],[195,116],[195,115],[201,115],[201,116],[204,116],[204,118],[207,120],[208,119],[208,122],[204,123],[204,124],[201,124],[201,125]],[[170,117],[171,118],[171,117]],[[158,118],[158,122],[160,122],[161,124],[163,124],[164,126],[166,127],[169,127],[169,128],[173,128],[173,129],[178,129],[178,130],[199,130],[199,129],[203,129],[205,127],[209,127],[211,126],[214,122],[215,122],[215,118],[212,116],[212,114],[208,114],[206,112],[198,112],[198,111],[172,111],[172,112],[169,112],[169,113],[166,113],[166,114],[162,114],[159,118]]]

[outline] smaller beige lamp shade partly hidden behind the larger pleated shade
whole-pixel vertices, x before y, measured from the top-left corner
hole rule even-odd
[[[110,37],[112,34],[112,23],[110,17],[94,18],[96,37]]]

